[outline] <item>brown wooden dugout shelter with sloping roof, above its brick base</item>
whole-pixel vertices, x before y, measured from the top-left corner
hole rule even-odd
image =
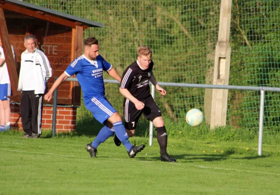
[[[53,70],[47,84],[47,88],[50,88],[69,63],[82,54],[83,31],[88,27],[103,27],[103,24],[19,0],[0,0],[0,38],[13,91],[11,99],[20,101],[18,76],[26,35],[36,37],[38,48],[50,61]],[[14,46],[16,61],[10,45]],[[60,85],[58,104],[80,105],[78,82],[65,81]]]

